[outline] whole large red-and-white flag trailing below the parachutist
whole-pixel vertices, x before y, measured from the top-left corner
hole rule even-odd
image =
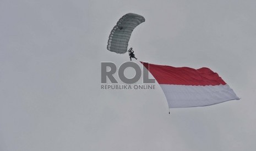
[[[169,108],[202,107],[239,100],[230,86],[209,68],[193,69],[141,63],[160,84]]]

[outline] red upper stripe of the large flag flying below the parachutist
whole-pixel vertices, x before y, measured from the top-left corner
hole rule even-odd
[[[172,67],[141,62],[154,76],[159,84],[175,85],[225,85],[224,80],[209,68],[193,69],[189,67]]]

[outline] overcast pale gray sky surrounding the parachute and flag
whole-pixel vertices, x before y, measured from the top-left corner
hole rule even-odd
[[[255,150],[255,1],[0,1],[0,150]],[[100,89],[126,13],[141,61],[209,67],[239,101],[171,109],[156,90]],[[130,71],[132,72],[132,71]]]

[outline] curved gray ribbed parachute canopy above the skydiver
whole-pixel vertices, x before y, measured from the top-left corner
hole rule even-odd
[[[107,50],[118,54],[127,52],[130,35],[135,27],[145,21],[145,18],[138,14],[128,13],[118,20],[113,27],[107,41]]]

